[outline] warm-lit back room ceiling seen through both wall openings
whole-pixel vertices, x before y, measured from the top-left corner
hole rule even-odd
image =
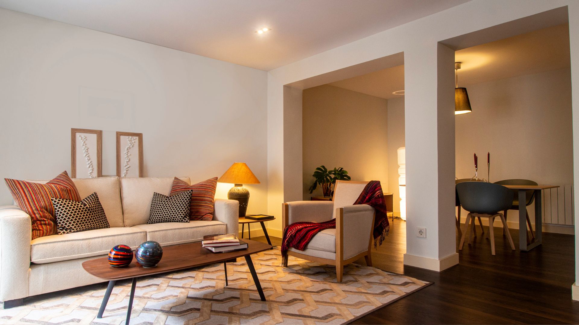
[[[569,25],[557,25],[455,52],[463,62],[459,87],[508,77],[569,68]],[[329,83],[380,98],[404,89],[404,65]]]

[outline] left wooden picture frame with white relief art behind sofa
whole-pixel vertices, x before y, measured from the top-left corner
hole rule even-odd
[[[80,136],[83,138],[79,138]],[[81,160],[82,158],[84,159]],[[86,175],[80,173],[84,170],[87,171]],[[85,176],[102,177],[102,131],[71,128],[71,178]]]

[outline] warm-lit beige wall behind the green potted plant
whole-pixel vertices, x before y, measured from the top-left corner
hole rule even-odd
[[[303,90],[303,198],[320,165],[344,167],[352,180],[388,188],[387,101],[329,85]],[[343,149],[343,150],[342,150]]]

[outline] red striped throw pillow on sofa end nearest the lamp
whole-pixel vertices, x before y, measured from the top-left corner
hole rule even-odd
[[[211,221],[213,219],[213,199],[215,198],[216,188],[217,177],[192,185],[175,177],[175,179],[173,179],[173,186],[171,186],[170,195],[193,190],[191,194],[189,220]]]

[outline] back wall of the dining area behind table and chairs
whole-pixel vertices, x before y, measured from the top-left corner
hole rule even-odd
[[[456,177],[573,184],[571,72],[559,69],[466,86],[472,113],[456,116]],[[527,208],[534,223],[534,208]],[[463,214],[464,215],[464,214]],[[516,211],[510,223],[518,224]],[[466,215],[465,215],[466,216]]]

